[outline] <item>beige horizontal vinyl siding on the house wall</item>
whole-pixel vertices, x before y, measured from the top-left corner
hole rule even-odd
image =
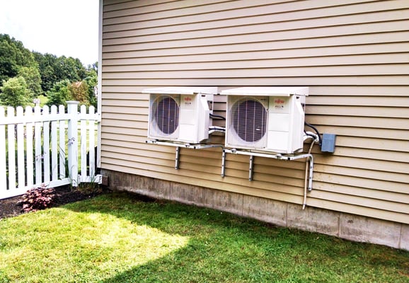
[[[302,161],[146,144],[157,86],[309,86],[316,146],[307,204],[409,224],[409,2],[103,1],[102,168],[302,203]],[[226,98],[214,111],[225,115]],[[224,121],[214,120],[224,126]],[[224,143],[220,135],[214,143]]]

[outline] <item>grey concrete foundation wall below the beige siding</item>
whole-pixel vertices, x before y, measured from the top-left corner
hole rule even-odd
[[[234,192],[102,170],[113,190],[209,207],[289,228],[409,250],[409,225]]]

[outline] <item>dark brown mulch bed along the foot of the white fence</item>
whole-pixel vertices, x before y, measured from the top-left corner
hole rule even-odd
[[[79,200],[86,200],[107,192],[106,189],[93,190],[92,192],[83,192],[81,190],[73,190],[69,186],[55,187],[54,189],[57,197],[55,197],[52,207],[58,207],[60,205],[68,204],[71,202],[78,202]],[[23,214],[24,212],[22,212],[21,205],[22,200],[22,195],[0,200],[0,219]]]

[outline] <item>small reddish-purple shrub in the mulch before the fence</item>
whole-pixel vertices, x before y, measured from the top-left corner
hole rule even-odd
[[[55,194],[54,187],[33,187],[23,195],[23,212],[36,212],[41,209],[46,209],[54,202]]]

